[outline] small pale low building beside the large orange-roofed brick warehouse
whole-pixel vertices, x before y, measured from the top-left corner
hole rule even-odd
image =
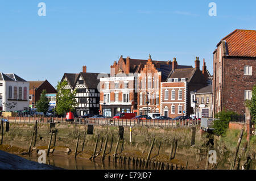
[[[196,117],[213,117],[212,85],[203,87],[196,92],[190,92],[190,95],[191,107],[195,110]]]

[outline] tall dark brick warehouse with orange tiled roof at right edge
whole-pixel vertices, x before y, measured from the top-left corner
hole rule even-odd
[[[235,30],[213,52],[213,111],[245,113],[256,74],[256,31]]]

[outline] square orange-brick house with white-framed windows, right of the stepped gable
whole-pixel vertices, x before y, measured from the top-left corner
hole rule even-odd
[[[172,64],[175,65],[175,61]],[[173,66],[166,81],[161,83],[161,114],[172,118],[191,115],[194,110],[191,107],[190,92],[207,86],[209,77],[205,62],[203,70],[200,70],[199,57],[196,57],[195,68]]]

